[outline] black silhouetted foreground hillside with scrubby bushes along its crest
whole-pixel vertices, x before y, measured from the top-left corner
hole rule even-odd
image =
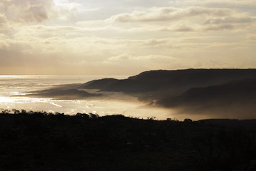
[[[255,120],[0,114],[0,170],[255,170]]]

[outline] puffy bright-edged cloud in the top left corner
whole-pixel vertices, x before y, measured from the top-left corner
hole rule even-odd
[[[81,5],[68,0],[3,0],[0,7],[9,21],[27,24],[41,23],[53,18],[66,20]]]

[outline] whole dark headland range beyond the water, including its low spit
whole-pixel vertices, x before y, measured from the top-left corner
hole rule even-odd
[[[145,71],[123,80],[103,78],[31,95],[65,99],[120,99],[121,95],[115,94],[117,92],[131,95],[148,105],[175,108],[178,113],[256,118],[256,69]]]

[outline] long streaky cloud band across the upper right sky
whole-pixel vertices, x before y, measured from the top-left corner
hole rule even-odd
[[[190,6],[186,8],[151,8],[150,11],[132,11],[118,14],[107,19],[106,23],[128,24],[132,31],[218,31],[252,28],[256,16],[228,8]],[[132,25],[133,24],[133,25]],[[138,27],[141,26],[141,27]]]

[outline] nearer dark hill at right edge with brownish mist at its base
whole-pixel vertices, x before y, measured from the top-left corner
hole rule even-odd
[[[189,113],[255,118],[256,79],[230,81],[219,86],[190,88],[181,95],[158,100],[158,105]]]

